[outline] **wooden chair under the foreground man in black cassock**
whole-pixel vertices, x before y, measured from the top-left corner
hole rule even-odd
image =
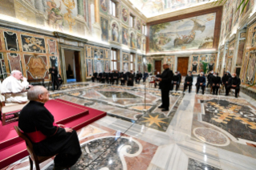
[[[30,154],[30,156],[29,156],[30,170],[33,170],[33,161],[35,162],[36,170],[39,170],[40,169],[39,164],[41,164],[45,160],[50,159],[53,156],[37,156],[34,152],[33,145],[32,145],[32,142],[30,141],[30,139],[28,137],[26,137],[26,135],[20,130],[19,127],[14,126],[14,129],[16,130],[18,136],[26,141],[26,149],[27,149],[27,152],[29,152],[29,154]],[[54,156],[56,156],[56,155],[54,155]]]

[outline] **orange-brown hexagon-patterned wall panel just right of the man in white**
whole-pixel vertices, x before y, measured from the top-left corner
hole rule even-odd
[[[24,55],[27,79],[49,79],[47,56]]]

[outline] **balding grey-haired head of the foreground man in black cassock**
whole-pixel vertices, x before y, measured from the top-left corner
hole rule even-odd
[[[49,100],[49,94],[45,87],[34,86],[27,91],[27,99],[46,103]]]

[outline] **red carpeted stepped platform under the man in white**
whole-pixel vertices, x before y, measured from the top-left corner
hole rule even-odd
[[[79,130],[79,128],[107,115],[104,111],[62,99],[49,100],[45,107],[55,116],[56,123],[62,123],[75,130]],[[0,168],[28,156],[25,142],[18,137],[14,130],[15,125],[18,125],[18,122],[9,123],[5,126],[0,123]]]

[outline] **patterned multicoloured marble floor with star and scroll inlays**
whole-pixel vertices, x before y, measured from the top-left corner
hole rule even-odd
[[[195,86],[191,93],[171,91],[165,112],[158,109],[160,91],[147,88],[144,98],[143,85],[78,83],[51,98],[108,112],[77,132],[83,156],[71,169],[256,169],[256,101],[242,93],[235,99],[209,89],[196,95]],[[40,164],[53,166],[52,159]],[[26,157],[4,169],[29,168]]]

